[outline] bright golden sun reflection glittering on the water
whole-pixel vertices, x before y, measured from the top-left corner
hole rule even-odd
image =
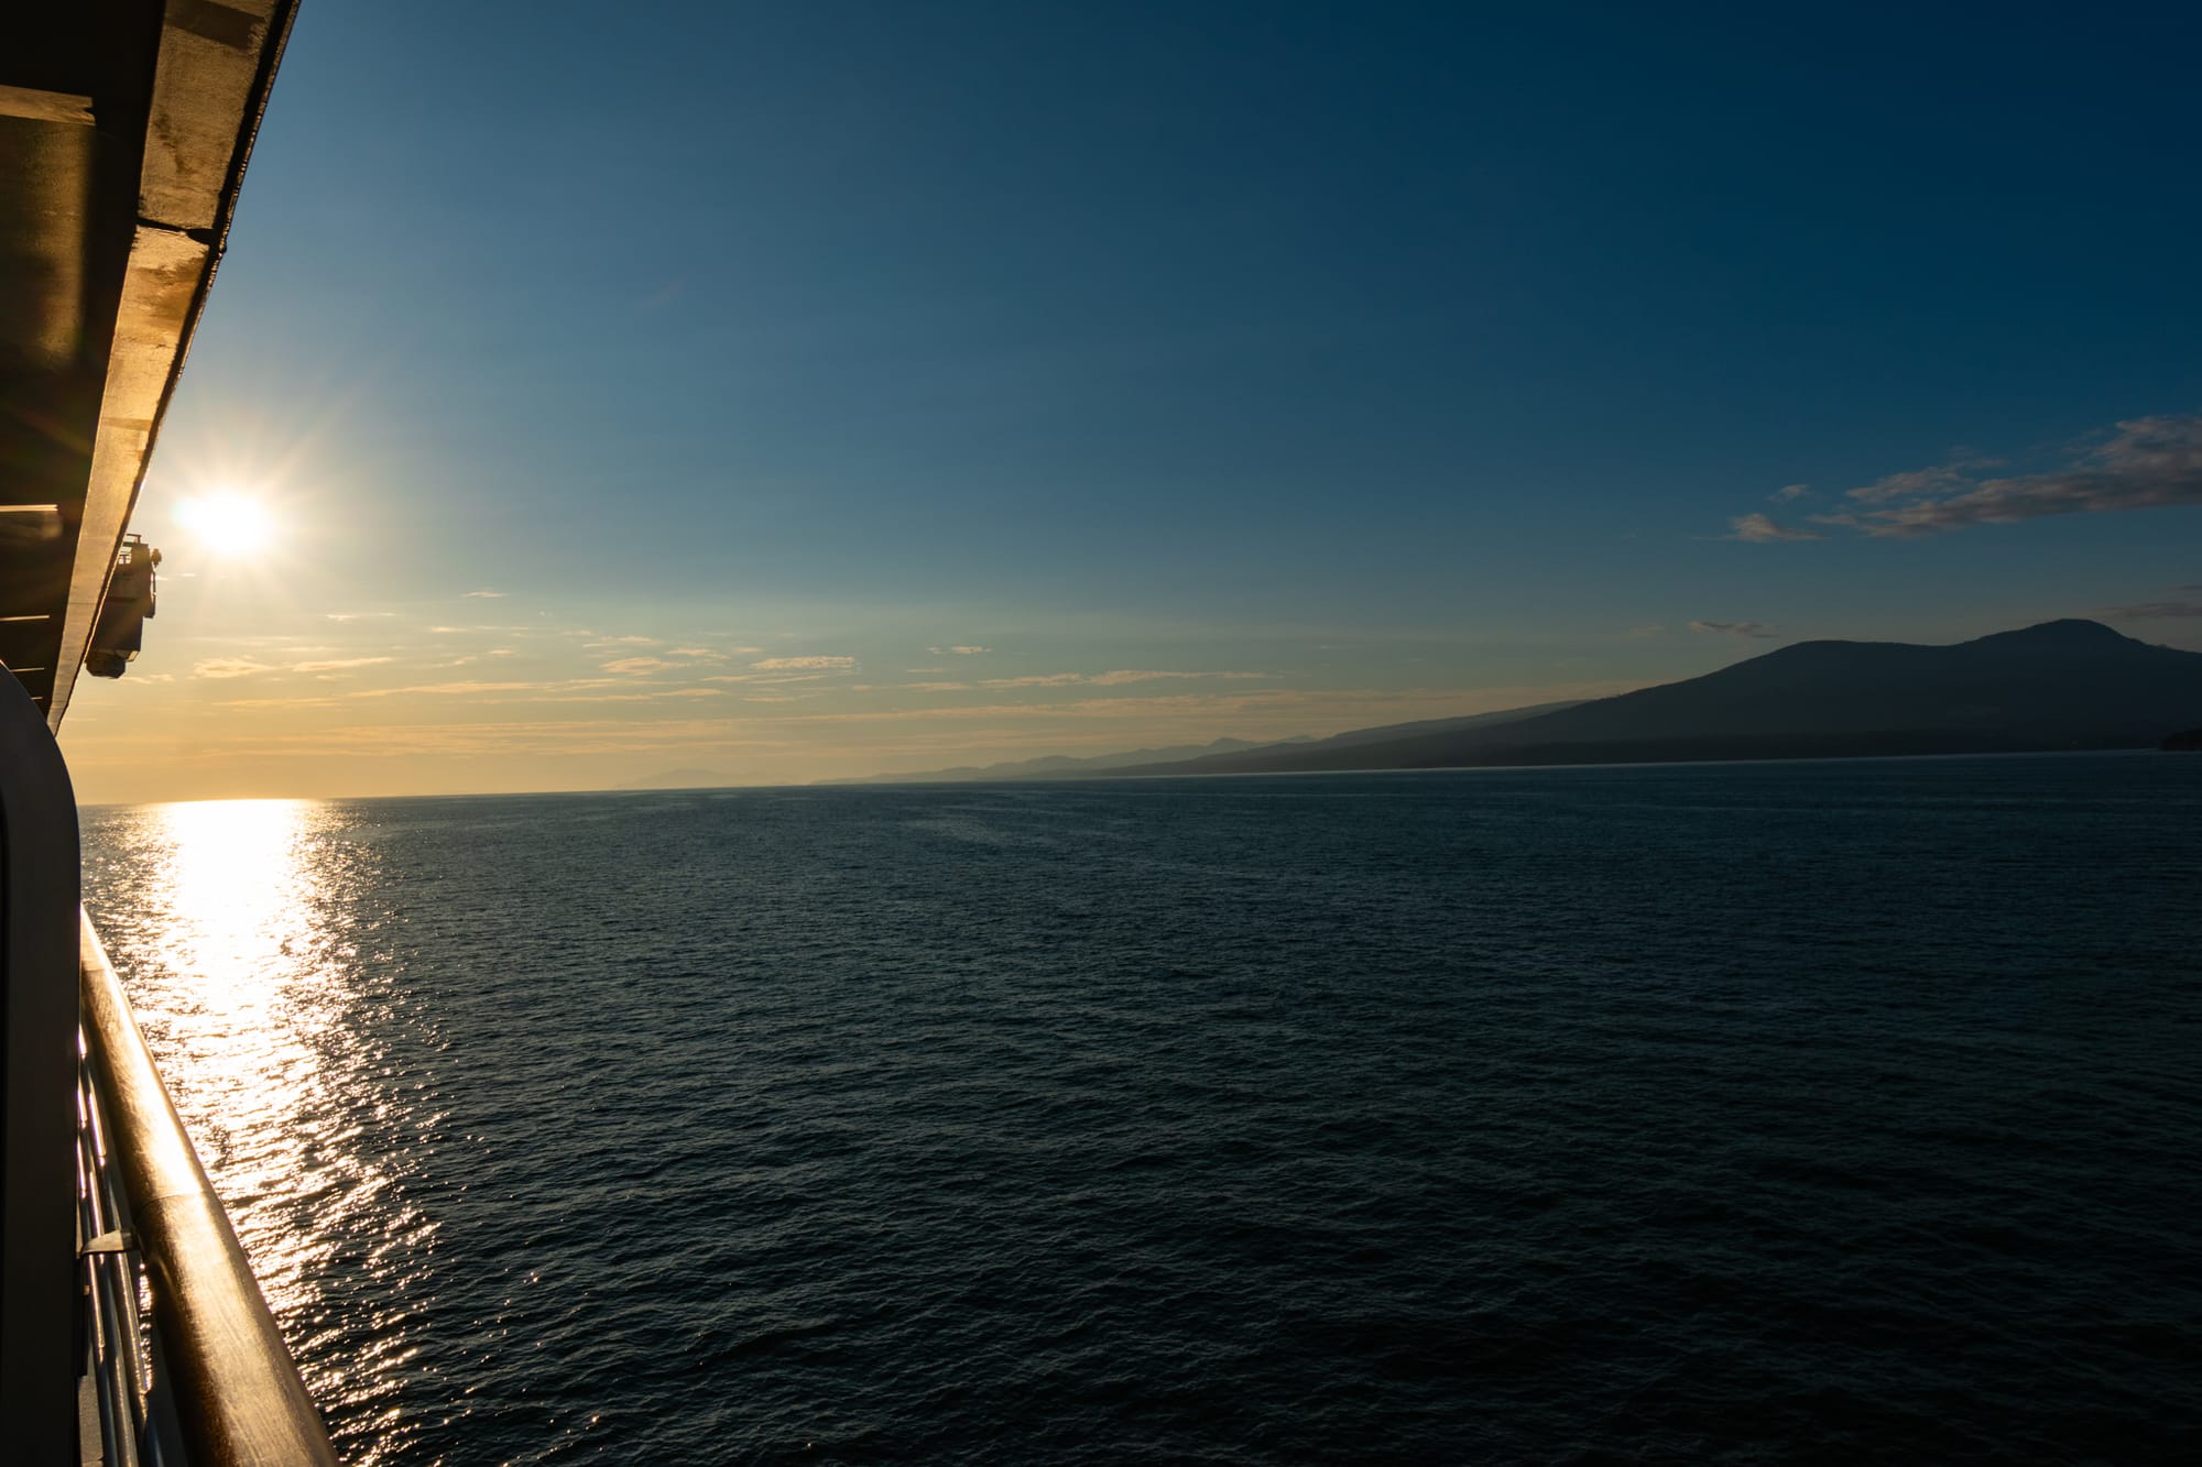
[[[425,1141],[440,1119],[396,1104],[412,1077],[361,954],[381,923],[359,905],[372,857],[352,835],[341,806],[308,800],[112,811],[86,830],[92,919],[333,1427],[381,1414],[414,1352],[436,1227],[405,1196],[425,1156],[405,1132]],[[339,1445],[381,1460],[403,1441],[392,1425]]]

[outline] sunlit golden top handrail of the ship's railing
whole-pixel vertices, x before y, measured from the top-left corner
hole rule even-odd
[[[185,1456],[194,1467],[335,1467],[321,1414],[176,1119],[90,916],[81,938],[84,1040],[152,1282]]]

